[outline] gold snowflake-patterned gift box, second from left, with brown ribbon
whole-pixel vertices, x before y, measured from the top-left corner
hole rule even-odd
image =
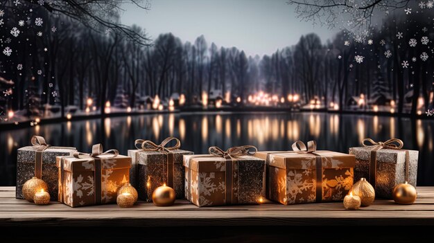
[[[58,201],[71,207],[116,203],[118,189],[130,182],[131,157],[103,152],[101,144],[92,147],[92,154],[75,152],[56,161]]]

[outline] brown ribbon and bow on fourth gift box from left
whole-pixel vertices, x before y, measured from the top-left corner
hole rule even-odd
[[[253,149],[253,151],[251,151]],[[238,201],[236,197],[234,197],[233,192],[233,173],[234,173],[234,160],[240,156],[245,155],[253,155],[257,152],[257,147],[252,145],[244,145],[239,147],[229,147],[229,149],[222,150],[220,147],[212,146],[209,147],[208,152],[213,156],[221,156],[226,159],[226,171],[225,171],[225,180],[226,180],[226,188],[225,188],[225,197],[226,204],[233,204]]]

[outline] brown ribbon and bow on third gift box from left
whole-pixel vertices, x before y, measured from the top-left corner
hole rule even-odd
[[[171,141],[176,141],[176,144],[168,147],[168,143]],[[134,145],[139,150],[143,151],[157,151],[157,152],[163,152],[166,153],[167,159],[167,186],[173,188],[173,175],[175,174],[175,159],[173,157],[172,150],[177,150],[181,147],[181,141],[178,138],[174,138],[169,136],[168,138],[164,139],[162,143],[157,145],[153,141],[149,140],[143,140],[143,139],[137,139],[134,141]],[[136,173],[138,173],[138,170],[136,169]],[[138,175],[137,177],[138,178]]]

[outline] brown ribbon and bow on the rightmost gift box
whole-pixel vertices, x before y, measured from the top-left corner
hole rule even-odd
[[[388,150],[402,150],[402,147],[404,145],[403,141],[398,138],[392,138],[385,142],[375,142],[371,138],[365,138],[362,141],[363,146],[365,147],[373,147],[370,154],[370,174],[369,174],[369,182],[375,189],[376,184],[376,152],[381,149],[388,149]],[[405,179],[408,181],[408,169],[409,169],[409,159],[410,159],[410,153],[408,150],[403,150],[406,152],[406,172],[405,172]]]

